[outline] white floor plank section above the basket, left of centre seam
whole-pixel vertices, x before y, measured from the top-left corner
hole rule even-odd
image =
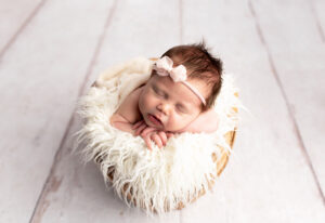
[[[178,2],[127,0],[126,5],[120,6],[116,21],[108,29],[92,79],[108,66],[135,56],[160,56],[171,47],[181,43]],[[123,28],[120,27],[120,21]]]

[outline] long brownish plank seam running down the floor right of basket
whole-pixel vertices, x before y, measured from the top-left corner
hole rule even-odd
[[[283,97],[284,97],[284,101],[285,101],[287,110],[288,110],[288,113],[289,113],[290,121],[294,123],[294,129],[295,129],[295,132],[296,132],[296,136],[297,136],[297,139],[298,139],[299,147],[300,147],[300,149],[301,149],[301,152],[302,152],[302,155],[303,155],[303,157],[306,158],[307,163],[308,163],[308,166],[309,166],[309,168],[310,168],[310,170],[311,170],[311,172],[312,172],[312,175],[313,175],[313,178],[314,178],[314,181],[315,181],[315,184],[316,184],[318,194],[320,194],[320,196],[321,196],[321,199],[322,199],[322,201],[323,201],[323,205],[325,206],[325,196],[324,196],[324,193],[323,193],[323,191],[322,191],[320,180],[318,180],[318,178],[317,178],[317,175],[316,175],[316,173],[315,173],[315,170],[314,170],[314,167],[313,167],[313,165],[312,165],[311,158],[310,158],[310,156],[309,156],[309,154],[308,154],[308,152],[307,152],[307,148],[306,148],[306,146],[304,146],[302,136],[301,136],[300,131],[299,131],[299,127],[298,127],[298,124],[297,124],[297,121],[296,121],[296,118],[295,118],[295,116],[294,116],[292,109],[291,109],[291,107],[290,107],[290,105],[289,105],[289,100],[288,100],[288,97],[287,97],[287,95],[286,95],[286,93],[285,93],[285,91],[284,91],[283,84],[282,84],[282,82],[281,82],[281,80],[280,80],[278,73],[277,73],[276,67],[275,67],[275,64],[274,64],[274,60],[273,60],[273,57],[272,57],[272,55],[271,55],[271,50],[269,49],[269,47],[268,47],[268,44],[266,44],[265,38],[264,38],[263,32],[262,32],[262,30],[261,30],[261,26],[260,26],[260,24],[259,24],[259,22],[258,22],[258,16],[257,16],[257,14],[256,14],[256,12],[255,12],[253,5],[252,5],[252,3],[251,3],[250,0],[248,1],[248,8],[249,8],[249,11],[250,11],[250,13],[251,13],[251,15],[252,15],[252,17],[253,17],[255,25],[256,25],[256,29],[257,29],[258,36],[259,36],[259,38],[260,38],[260,41],[262,42],[262,44],[263,44],[264,48],[265,48],[265,51],[266,51],[266,54],[268,54],[268,60],[269,60],[269,63],[270,63],[270,66],[271,66],[272,74],[273,74],[273,76],[274,76],[274,78],[275,78],[275,80],[276,80],[276,83],[277,83],[277,86],[278,86],[278,88],[280,88],[280,90],[281,90],[281,93],[282,93],[282,95],[283,95]]]

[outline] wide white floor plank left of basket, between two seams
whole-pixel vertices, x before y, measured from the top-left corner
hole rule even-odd
[[[2,57],[1,222],[30,219],[109,6],[49,1]]]

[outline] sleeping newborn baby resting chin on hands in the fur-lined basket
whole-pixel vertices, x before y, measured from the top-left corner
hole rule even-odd
[[[153,65],[151,78],[132,91],[110,117],[115,128],[166,145],[174,133],[213,132],[211,109],[222,84],[222,62],[204,43],[171,48]]]

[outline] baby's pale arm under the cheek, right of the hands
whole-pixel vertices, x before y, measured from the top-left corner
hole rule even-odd
[[[194,121],[179,132],[214,132],[219,128],[219,118],[213,109],[202,113]]]

